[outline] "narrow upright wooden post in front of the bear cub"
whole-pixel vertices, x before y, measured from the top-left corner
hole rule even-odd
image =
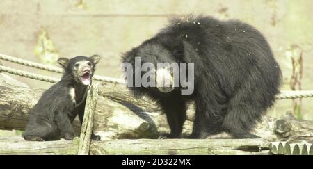
[[[90,137],[93,133],[93,118],[95,115],[98,99],[98,88],[99,85],[97,83],[93,83],[88,90],[85,113],[83,116],[83,124],[81,125],[81,134],[79,139],[79,155],[89,154]]]

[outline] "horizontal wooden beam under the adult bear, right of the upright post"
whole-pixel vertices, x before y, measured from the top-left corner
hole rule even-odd
[[[90,145],[90,154],[266,154],[268,152],[268,145],[269,143],[263,139],[103,140],[93,142]]]

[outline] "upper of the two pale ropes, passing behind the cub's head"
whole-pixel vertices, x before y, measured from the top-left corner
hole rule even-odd
[[[17,63],[19,65],[34,67],[34,68],[37,68],[40,70],[47,70],[49,72],[63,73],[63,69],[61,69],[59,67],[44,65],[44,64],[35,63],[32,61],[26,61],[22,58],[15,58],[13,56],[0,54],[0,59],[2,59],[3,61],[9,61],[12,63]],[[95,79],[96,81],[105,81],[105,82],[109,82],[109,83],[125,84],[125,82],[122,79],[111,78],[111,77],[102,77],[102,76],[95,75],[95,76],[93,76],[93,79]]]

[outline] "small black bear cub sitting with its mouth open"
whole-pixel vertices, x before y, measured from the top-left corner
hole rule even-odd
[[[71,59],[59,58],[64,68],[61,81],[46,90],[30,113],[29,124],[22,135],[25,140],[72,140],[72,121],[79,115],[83,122],[88,86],[95,73],[100,56],[77,56]],[[93,140],[100,136],[93,134]]]

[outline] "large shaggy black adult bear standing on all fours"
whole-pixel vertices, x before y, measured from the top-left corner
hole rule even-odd
[[[140,65],[194,63],[191,95],[181,95],[181,85],[164,92],[129,83],[135,96],[152,97],[166,114],[170,134],[161,138],[180,137],[186,103],[191,100],[195,101],[195,120],[188,138],[206,138],[222,131],[234,138],[257,138],[250,131],[273,106],[282,79],[264,36],[237,20],[219,21],[206,16],[172,19],[160,33],[125,53],[122,62],[134,67],[136,57],[140,58]],[[138,67],[132,72],[134,77],[138,75],[136,70]],[[138,77],[143,77],[146,72],[139,73]]]

